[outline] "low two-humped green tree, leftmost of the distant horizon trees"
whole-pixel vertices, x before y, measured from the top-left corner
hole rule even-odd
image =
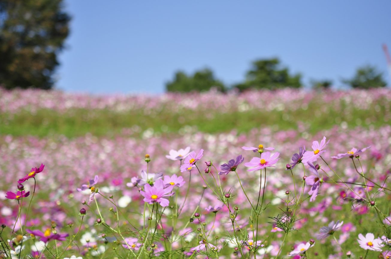
[[[193,75],[186,75],[183,71],[177,71],[174,80],[166,83],[168,92],[207,91],[212,87],[224,91],[224,84],[215,78],[213,71],[206,68],[196,71]]]

